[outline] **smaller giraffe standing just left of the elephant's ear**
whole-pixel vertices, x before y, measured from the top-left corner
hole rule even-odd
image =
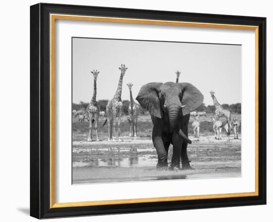
[[[132,83],[128,83],[127,84],[129,91],[130,91],[130,105],[129,105],[129,122],[131,124],[130,126],[130,135],[129,136],[137,136],[136,133],[136,126],[137,126],[137,118],[139,115],[139,106],[138,104],[135,103],[133,95],[132,95]],[[133,133],[132,133],[132,129],[133,129]]]

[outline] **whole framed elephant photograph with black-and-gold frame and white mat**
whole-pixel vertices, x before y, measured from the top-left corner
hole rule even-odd
[[[30,7],[30,215],[266,204],[266,18]]]

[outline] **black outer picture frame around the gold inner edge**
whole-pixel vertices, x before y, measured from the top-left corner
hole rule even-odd
[[[50,14],[259,26],[259,195],[51,208]],[[30,216],[38,219],[266,204],[266,18],[38,3],[30,6]]]

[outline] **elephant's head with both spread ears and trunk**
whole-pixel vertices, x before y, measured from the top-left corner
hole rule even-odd
[[[162,118],[163,112],[167,112],[170,127],[191,143],[191,140],[179,128],[177,120],[179,115],[187,115],[203,103],[204,96],[194,85],[151,82],[141,87],[136,100],[157,118]]]

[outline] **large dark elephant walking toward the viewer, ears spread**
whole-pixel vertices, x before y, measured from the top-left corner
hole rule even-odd
[[[191,168],[187,146],[190,112],[204,101],[203,94],[191,83],[151,82],[143,85],[137,102],[150,112],[153,123],[152,142],[157,152],[157,169],[168,168],[168,150],[173,145],[171,169]]]

